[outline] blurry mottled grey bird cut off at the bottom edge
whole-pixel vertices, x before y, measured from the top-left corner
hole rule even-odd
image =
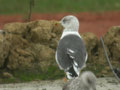
[[[83,72],[64,85],[62,90],[96,90],[96,76],[90,71]]]

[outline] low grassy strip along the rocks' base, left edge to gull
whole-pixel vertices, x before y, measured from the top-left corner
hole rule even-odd
[[[13,78],[3,78],[0,83],[29,82],[34,80],[56,80],[63,78],[64,72],[56,66],[50,66],[46,72],[33,72],[28,70],[12,71]]]

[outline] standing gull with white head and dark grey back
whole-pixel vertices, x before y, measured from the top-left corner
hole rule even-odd
[[[88,54],[79,34],[78,19],[68,15],[60,23],[64,30],[56,50],[56,62],[65,71],[67,78],[72,79],[78,77],[81,69],[86,66]]]

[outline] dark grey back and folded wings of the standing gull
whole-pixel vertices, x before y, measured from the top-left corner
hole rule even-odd
[[[72,34],[63,37],[57,47],[57,57],[64,70],[73,66],[73,60],[78,64],[78,68],[82,68],[86,58],[86,48],[82,39]]]

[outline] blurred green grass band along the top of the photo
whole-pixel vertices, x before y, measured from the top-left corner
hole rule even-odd
[[[0,0],[0,14],[28,13],[30,0]],[[120,10],[120,0],[35,0],[33,12],[104,12]]]

